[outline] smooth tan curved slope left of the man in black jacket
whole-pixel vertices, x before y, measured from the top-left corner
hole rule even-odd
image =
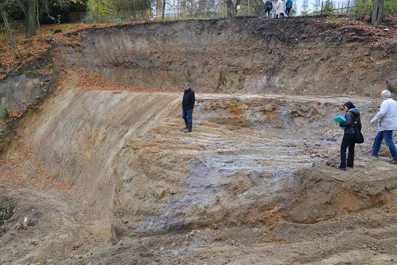
[[[176,96],[82,93],[68,88],[42,105],[51,112],[26,115],[17,134],[24,138],[24,145],[34,146],[52,176],[77,189],[90,203],[109,209],[118,150],[126,139],[144,133],[168,115]],[[23,159],[23,148],[13,141],[6,157]],[[24,168],[29,178],[29,165]]]

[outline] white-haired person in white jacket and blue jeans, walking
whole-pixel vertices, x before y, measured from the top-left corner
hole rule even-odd
[[[390,163],[397,164],[397,148],[393,140],[393,131],[397,130],[397,102],[393,100],[392,93],[389,90],[383,90],[381,96],[384,99],[381,104],[381,110],[371,120],[371,124],[378,122],[379,128],[375,136],[371,155],[378,156],[382,140],[385,138],[385,143],[393,156],[393,160]]]

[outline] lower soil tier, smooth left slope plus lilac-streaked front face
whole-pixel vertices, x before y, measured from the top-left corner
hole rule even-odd
[[[32,178],[32,165],[23,161],[26,146],[33,146],[51,176],[104,212],[111,208],[114,241],[208,225],[255,225],[273,212],[317,222],[343,211],[320,206],[317,215],[309,214],[314,203],[297,215],[299,205],[292,205],[302,198],[288,191],[302,185],[297,170],[324,164],[299,141],[329,134],[340,102],[351,98],[198,93],[192,138],[179,135],[179,93],[83,92],[70,83],[60,81],[63,89],[43,103],[42,112],[23,117],[6,158],[21,161],[18,171]],[[369,98],[354,102],[374,113]],[[328,148],[329,142],[323,144]],[[307,188],[321,179],[305,181]],[[325,200],[343,188],[331,187]],[[365,198],[382,187],[375,195],[363,193],[352,209],[368,207]],[[241,205],[245,214],[234,215]]]

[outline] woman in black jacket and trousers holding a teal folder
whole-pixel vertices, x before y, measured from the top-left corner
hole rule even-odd
[[[344,105],[345,123],[340,123],[339,126],[344,128],[344,134],[342,143],[340,144],[340,165],[338,169],[346,170],[347,167],[354,166],[354,146],[356,144],[356,128],[361,131],[361,119],[360,111],[350,101],[347,101]],[[346,162],[346,149],[349,148]]]

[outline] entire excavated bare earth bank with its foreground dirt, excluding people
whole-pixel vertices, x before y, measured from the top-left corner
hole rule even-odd
[[[54,44],[0,83],[19,116],[2,129],[0,263],[396,264],[397,167],[366,153],[379,93],[397,91],[396,25],[369,27],[241,17]],[[348,100],[366,141],[338,172]]]

